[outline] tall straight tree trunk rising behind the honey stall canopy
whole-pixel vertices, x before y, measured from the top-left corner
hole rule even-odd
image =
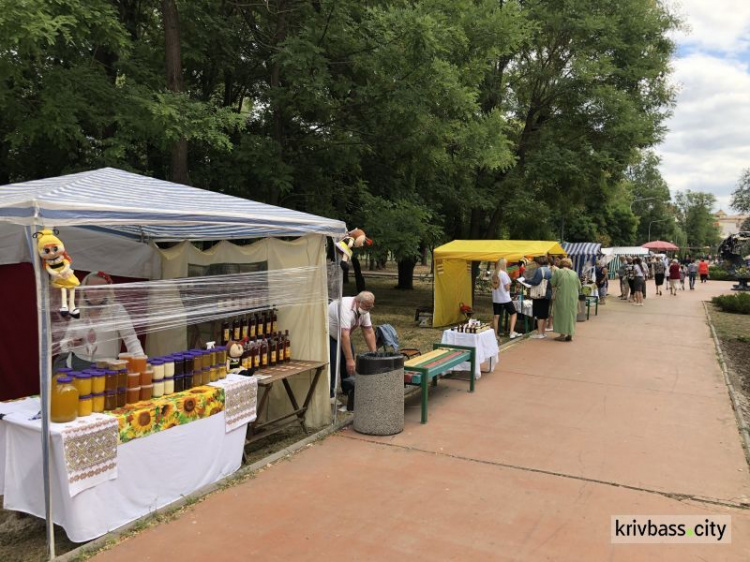
[[[161,13],[164,20],[164,53],[167,72],[167,88],[182,92],[182,55],[180,49],[180,19],[175,0],[162,0]],[[179,139],[172,147],[169,179],[190,185],[188,175],[187,139]]]

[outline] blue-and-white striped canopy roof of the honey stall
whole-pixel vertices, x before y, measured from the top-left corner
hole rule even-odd
[[[342,221],[116,168],[2,186],[0,221],[102,228],[154,241],[346,234]]]

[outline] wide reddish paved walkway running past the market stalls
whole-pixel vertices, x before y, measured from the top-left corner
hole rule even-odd
[[[571,343],[502,353],[475,394],[441,382],[427,425],[414,401],[400,435],[339,432],[96,560],[750,560],[700,302],[726,288],[610,300]],[[613,545],[613,514],[731,515],[732,544]]]

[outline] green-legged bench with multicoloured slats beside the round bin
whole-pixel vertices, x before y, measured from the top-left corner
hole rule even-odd
[[[437,386],[437,379],[456,365],[471,363],[469,392],[474,392],[474,367],[476,349],[463,345],[436,343],[429,353],[409,359],[404,363],[404,384],[422,388],[422,423],[427,423],[427,397],[430,381]]]

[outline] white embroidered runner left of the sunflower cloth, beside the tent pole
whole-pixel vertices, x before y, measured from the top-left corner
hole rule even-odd
[[[70,497],[117,478],[117,420],[92,414],[61,426]]]

